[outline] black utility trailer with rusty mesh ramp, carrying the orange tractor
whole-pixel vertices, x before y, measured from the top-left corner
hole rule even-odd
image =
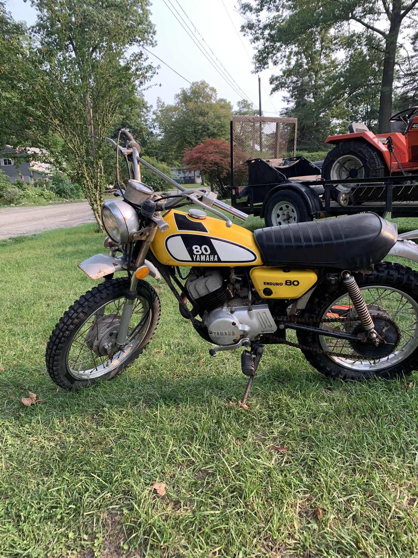
[[[323,180],[322,161],[296,156],[297,119],[234,116],[231,121],[231,205],[266,226],[373,211],[418,217],[418,174]],[[334,201],[350,190],[353,205]],[[347,196],[348,199],[348,196]]]

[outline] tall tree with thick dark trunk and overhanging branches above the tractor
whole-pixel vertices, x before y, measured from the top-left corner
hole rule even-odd
[[[240,2],[247,15],[243,30],[257,45],[256,69],[278,65],[283,49],[308,32],[331,29],[347,31],[350,22],[362,26],[382,41],[383,68],[379,93],[378,129],[390,131],[397,41],[418,0],[255,0]]]

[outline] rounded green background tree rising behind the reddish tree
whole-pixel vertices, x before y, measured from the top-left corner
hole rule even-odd
[[[174,96],[174,104],[158,99],[155,122],[161,151],[166,161],[181,160],[184,149],[200,145],[206,138],[226,140],[230,133],[232,105],[218,99],[216,89],[206,81],[195,81]]]

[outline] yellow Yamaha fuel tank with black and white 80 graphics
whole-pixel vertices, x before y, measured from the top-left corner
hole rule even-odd
[[[164,215],[166,232],[157,230],[151,250],[167,266],[262,266],[254,234],[239,225],[226,227],[213,217],[197,219],[183,211]]]

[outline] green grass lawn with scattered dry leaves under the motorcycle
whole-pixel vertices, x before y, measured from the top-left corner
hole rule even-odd
[[[331,381],[268,347],[249,410],[230,406],[238,352],[211,358],[151,280],[162,319],[142,357],[113,381],[57,389],[45,346],[94,284],[77,263],[104,251],[95,229],[0,246],[0,556],[418,556],[416,374]],[[42,401],[24,407],[28,391]]]

